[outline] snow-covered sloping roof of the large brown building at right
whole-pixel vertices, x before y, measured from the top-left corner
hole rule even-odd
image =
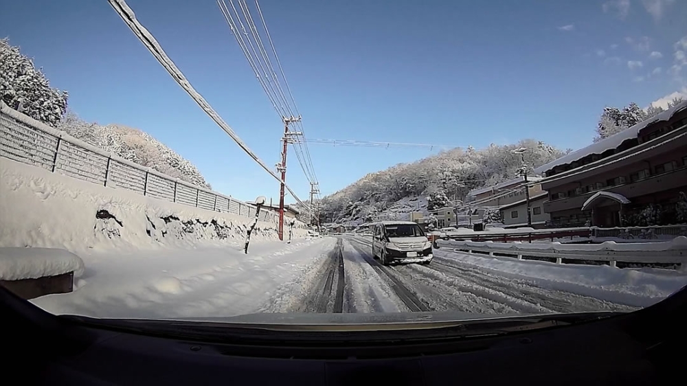
[[[638,124],[635,124],[635,126],[631,126],[630,128],[622,130],[620,133],[611,135],[610,137],[607,137],[605,139],[602,139],[601,141],[591,144],[586,148],[581,148],[579,150],[571,152],[568,155],[564,155],[559,159],[556,159],[549,163],[545,163],[544,165],[539,166],[539,168],[535,168],[534,172],[537,174],[543,174],[543,172],[547,172],[548,170],[551,170],[556,166],[565,165],[566,163],[578,161],[579,159],[587,157],[587,155],[602,154],[607,150],[615,149],[618,146],[620,146],[620,144],[622,144],[624,141],[627,141],[628,139],[637,138],[640,131],[646,126],[649,126],[650,124],[653,124],[655,122],[670,120],[671,117],[675,115],[675,113],[678,113],[679,111],[682,111],[686,108],[687,100],[680,102],[679,104],[676,104],[671,109],[668,109],[663,113],[657,114],[649,118],[648,120],[644,120]]]

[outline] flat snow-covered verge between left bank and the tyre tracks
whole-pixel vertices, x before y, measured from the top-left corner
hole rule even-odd
[[[57,315],[178,319],[284,312],[319,280],[335,238],[243,245],[95,251],[72,293],[30,302]],[[305,273],[311,273],[306,275]]]

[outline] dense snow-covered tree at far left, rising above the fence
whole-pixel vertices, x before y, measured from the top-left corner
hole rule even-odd
[[[50,88],[41,69],[10,45],[8,38],[0,39],[0,99],[12,109],[56,127],[67,110],[67,91]]]

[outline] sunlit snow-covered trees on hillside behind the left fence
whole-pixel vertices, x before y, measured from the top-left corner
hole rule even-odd
[[[100,126],[86,122],[74,112],[68,111],[58,129],[127,161],[194,185],[211,188],[193,163],[136,128],[115,124]]]

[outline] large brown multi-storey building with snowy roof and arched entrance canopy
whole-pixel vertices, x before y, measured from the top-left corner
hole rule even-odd
[[[687,192],[687,101],[534,172],[545,175],[552,226],[642,225],[646,209],[654,223],[674,222]]]

